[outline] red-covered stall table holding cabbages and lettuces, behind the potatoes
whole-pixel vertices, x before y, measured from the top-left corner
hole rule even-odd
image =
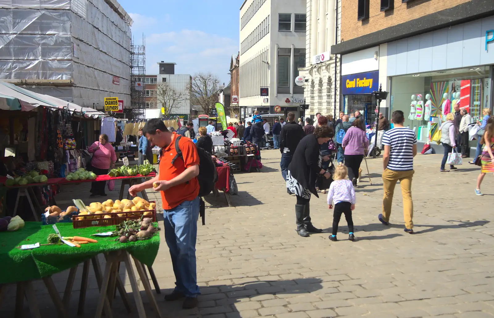
[[[71,183],[82,183],[82,182],[94,182],[94,181],[116,181],[116,180],[122,180],[122,184],[120,185],[120,195],[119,195],[119,200],[122,200],[124,198],[124,191],[125,191],[125,185],[128,185],[131,187],[133,184],[137,184],[141,182],[141,179],[151,179],[156,177],[156,173],[152,172],[147,176],[142,176],[142,175],[136,175],[136,176],[130,176],[130,177],[110,177],[109,175],[100,175],[97,176],[95,180],[73,180],[73,181],[68,181],[65,178],[48,178],[48,180],[44,183],[30,183],[30,184],[24,184],[24,185],[13,185],[13,186],[7,186],[7,188],[18,188],[19,191],[17,192],[17,198],[15,199],[15,206],[14,206],[14,211],[12,216],[14,217],[17,214],[17,208],[19,206],[19,199],[21,196],[26,196],[29,202],[29,205],[31,207],[31,211],[33,212],[33,216],[35,220],[38,222],[40,221],[39,214],[36,212],[37,210],[39,213],[42,212],[42,208],[40,203],[38,202],[38,199],[36,198],[36,195],[32,189],[34,186],[43,186],[43,185],[56,185],[60,186],[62,184],[71,184]],[[5,180],[7,178],[1,177],[0,178],[0,183],[5,183]],[[146,193],[146,190],[141,191],[142,198],[145,199],[146,201],[148,200],[148,195]],[[130,194],[127,194],[127,199],[130,199]],[[34,204],[33,204],[34,202]],[[53,205],[56,205],[55,199],[53,199]]]

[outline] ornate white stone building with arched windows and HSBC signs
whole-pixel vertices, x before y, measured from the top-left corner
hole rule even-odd
[[[305,77],[304,97],[309,108],[305,116],[334,115],[340,105],[340,60],[331,55],[330,48],[339,42],[340,0],[307,0],[307,34],[305,66],[300,65],[300,76]],[[338,28],[336,28],[336,19]]]

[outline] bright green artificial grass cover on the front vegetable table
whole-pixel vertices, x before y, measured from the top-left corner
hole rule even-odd
[[[81,247],[45,245],[33,250],[21,251],[16,246],[24,244],[46,244],[48,234],[55,233],[51,225],[41,222],[26,222],[24,228],[15,232],[0,232],[0,284],[38,279],[70,269],[91,257],[110,251],[124,249],[139,262],[151,266],[158,255],[160,235],[150,239],[120,243],[115,237],[89,236],[95,233],[114,231],[115,226],[74,228],[72,223],[58,223],[62,236],[82,236],[96,239],[97,243],[81,244]]]

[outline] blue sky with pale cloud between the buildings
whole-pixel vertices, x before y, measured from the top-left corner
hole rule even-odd
[[[146,36],[146,73],[156,62],[175,62],[176,74],[208,72],[221,82],[232,54],[239,50],[239,12],[243,0],[119,0],[132,17],[136,44]]]

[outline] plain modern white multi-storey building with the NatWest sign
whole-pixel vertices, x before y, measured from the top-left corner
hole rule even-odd
[[[300,56],[305,54],[305,38],[306,0],[244,1],[240,8],[241,108],[273,113],[275,106],[281,106],[281,113],[292,111],[298,116],[304,89],[295,85],[295,78]]]

